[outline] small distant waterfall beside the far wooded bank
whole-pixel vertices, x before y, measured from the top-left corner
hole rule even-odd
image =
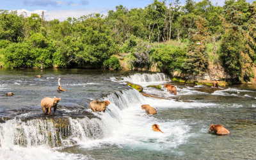
[[[151,82],[165,82],[168,81],[168,77],[164,73],[156,74],[133,74],[131,76],[124,77],[124,81],[131,83],[151,83]]]

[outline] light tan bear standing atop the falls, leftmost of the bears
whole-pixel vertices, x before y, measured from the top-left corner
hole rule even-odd
[[[41,106],[44,110],[44,113],[46,113],[48,110],[48,114],[51,115],[51,108],[53,107],[53,113],[56,114],[57,104],[58,102],[60,102],[60,100],[61,98],[56,97],[54,97],[53,99],[49,97],[42,99]]]

